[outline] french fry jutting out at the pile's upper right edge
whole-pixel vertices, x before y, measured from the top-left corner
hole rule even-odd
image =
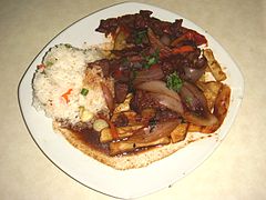
[[[211,49],[205,49],[203,54],[206,57],[208,62],[209,71],[212,72],[213,77],[216,81],[223,81],[226,79],[225,72],[223,72],[219,63],[215,60],[213,51]]]

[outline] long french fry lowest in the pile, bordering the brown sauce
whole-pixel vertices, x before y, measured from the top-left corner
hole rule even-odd
[[[168,137],[161,138],[158,140],[152,142],[143,142],[143,143],[134,143],[129,141],[119,141],[119,142],[111,142],[110,143],[110,154],[116,156],[123,152],[133,151],[137,148],[145,148],[158,144],[168,144],[171,142]]]

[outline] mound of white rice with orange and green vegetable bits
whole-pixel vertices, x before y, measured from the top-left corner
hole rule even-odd
[[[86,69],[88,62],[100,58],[96,49],[83,50],[69,44],[51,48],[33,78],[33,107],[52,119],[73,124],[81,120],[81,108],[90,114],[106,110],[100,86],[100,81],[106,80],[101,68]],[[82,89],[88,94],[82,94]]]

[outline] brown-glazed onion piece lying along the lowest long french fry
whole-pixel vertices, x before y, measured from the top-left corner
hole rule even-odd
[[[166,121],[157,123],[155,127],[147,127],[139,129],[132,137],[129,138],[129,142],[152,142],[161,138],[167,137],[180,124],[180,120]]]

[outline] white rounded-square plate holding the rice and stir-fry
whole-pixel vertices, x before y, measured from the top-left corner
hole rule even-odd
[[[94,31],[101,19],[135,13],[141,9],[153,11],[153,16],[162,20],[174,21],[175,19],[184,19],[161,8],[135,2],[115,4],[94,12],[68,27],[42,49],[23,74],[18,90],[24,122],[41,151],[58,168],[80,183],[102,193],[125,199],[142,197],[168,187],[201,164],[228,132],[243,99],[244,90],[243,77],[229,54],[203,29],[184,19],[184,27],[192,28],[207,38],[208,44],[217,60],[227,69],[228,79],[226,82],[232,88],[232,100],[227,117],[218,130],[217,137],[188,144],[176,153],[149,167],[119,171],[83,154],[65,141],[62,136],[54,133],[52,121],[45,118],[42,112],[37,112],[31,106],[31,81],[37,64],[41,62],[48,49],[54,44],[71,43],[75,47],[82,47],[83,42],[89,44],[103,42],[103,34]]]

